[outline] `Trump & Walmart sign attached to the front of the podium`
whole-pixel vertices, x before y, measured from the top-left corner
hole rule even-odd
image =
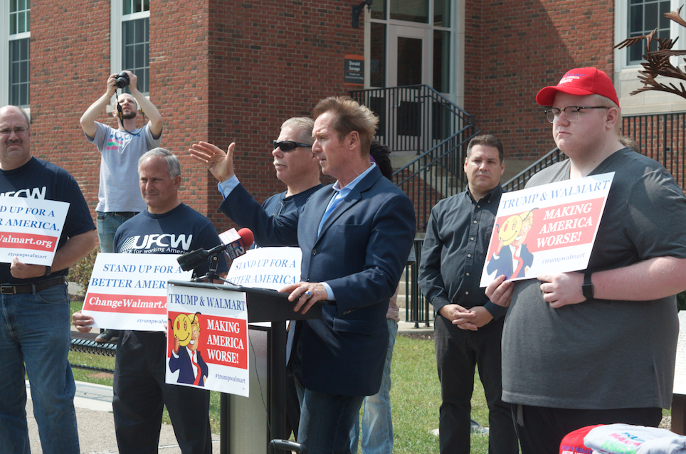
[[[248,397],[246,294],[169,285],[168,384]]]

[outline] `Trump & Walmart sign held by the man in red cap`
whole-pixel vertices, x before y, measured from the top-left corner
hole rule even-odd
[[[589,264],[614,172],[502,194],[481,287]]]

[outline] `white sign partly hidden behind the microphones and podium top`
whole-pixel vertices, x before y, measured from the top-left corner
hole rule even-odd
[[[300,248],[257,248],[233,260],[226,280],[243,287],[279,290],[300,282]]]

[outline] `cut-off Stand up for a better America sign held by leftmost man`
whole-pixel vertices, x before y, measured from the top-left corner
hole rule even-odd
[[[0,262],[12,263],[16,257],[29,265],[52,265],[68,209],[67,202],[4,196]]]

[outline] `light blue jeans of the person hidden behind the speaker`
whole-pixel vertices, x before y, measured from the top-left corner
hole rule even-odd
[[[391,454],[393,452],[393,421],[391,421],[391,360],[398,334],[398,322],[389,323],[389,350],[386,352],[381,389],[374,396],[364,398],[362,413],[362,454]],[[357,453],[359,439],[359,413],[350,432],[350,450]]]

